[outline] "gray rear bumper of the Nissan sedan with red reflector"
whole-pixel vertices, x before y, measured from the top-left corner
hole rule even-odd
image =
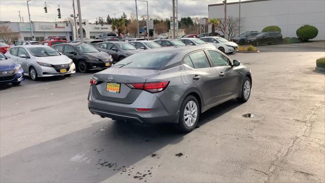
[[[150,108],[150,111],[137,111],[136,108]],[[90,87],[88,109],[92,114],[122,120],[132,120],[144,124],[178,123],[178,111],[168,112],[155,94],[146,92],[132,104],[117,103],[96,99]]]

